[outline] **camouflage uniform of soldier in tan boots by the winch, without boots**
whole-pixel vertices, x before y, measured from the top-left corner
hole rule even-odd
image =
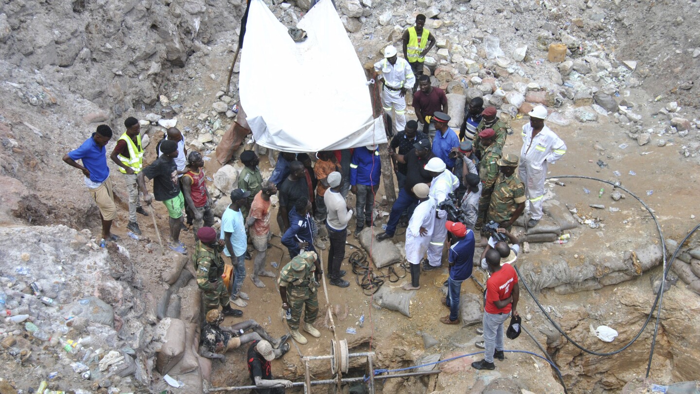
[[[298,254],[282,268],[277,278],[277,283],[287,288],[287,301],[292,309],[292,317],[287,320],[290,330],[299,330],[304,307],[305,323],[314,324],[318,316],[318,283],[314,278],[316,266],[311,253]]]

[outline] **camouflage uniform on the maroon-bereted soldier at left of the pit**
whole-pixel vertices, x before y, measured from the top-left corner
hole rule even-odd
[[[218,309],[221,306],[228,306],[228,291],[223,284],[224,262],[221,259],[223,247],[216,246],[216,249],[204,245],[197,241],[195,253],[192,259],[197,270],[197,285],[204,293],[204,307],[207,309]]]

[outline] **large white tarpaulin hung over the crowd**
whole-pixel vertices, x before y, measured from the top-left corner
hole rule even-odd
[[[321,151],[386,142],[372,118],[367,79],[330,0],[297,25],[295,43],[262,0],[252,0],[241,50],[241,105],[255,141],[281,151]]]

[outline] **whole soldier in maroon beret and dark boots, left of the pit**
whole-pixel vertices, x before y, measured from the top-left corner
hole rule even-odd
[[[223,246],[216,241],[216,230],[211,227],[201,227],[197,232],[195,253],[192,260],[197,271],[197,285],[204,293],[204,308],[206,312],[218,309],[219,304],[223,306],[221,311],[224,315],[239,317],[243,311],[233,309],[228,304],[228,292],[223,284],[224,262],[221,259]]]

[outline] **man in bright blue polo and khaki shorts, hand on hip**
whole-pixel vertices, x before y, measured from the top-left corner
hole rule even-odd
[[[63,156],[63,161],[83,172],[85,186],[90,191],[90,196],[102,217],[102,243],[118,240],[119,237],[111,233],[112,221],[117,217],[117,206],[114,204],[112,193],[112,181],[109,179],[109,167],[107,167],[107,150],[105,146],[112,138],[112,129],[108,125],[99,125],[92,136],[85,140],[80,147]],[[76,163],[82,161],[83,165]]]

